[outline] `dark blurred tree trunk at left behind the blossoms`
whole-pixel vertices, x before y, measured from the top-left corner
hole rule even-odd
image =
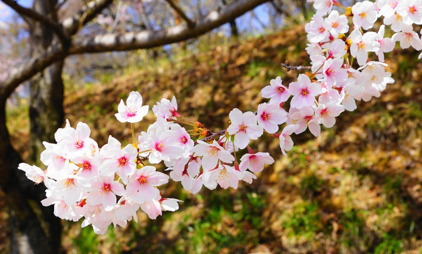
[[[34,0],[33,9],[57,20],[57,0]],[[55,40],[53,31],[43,24],[29,21],[32,55],[38,55]],[[54,142],[54,133],[61,127],[63,112],[63,62],[54,63],[31,80],[30,159],[39,165],[43,141]],[[0,187],[10,206],[11,253],[56,254],[61,251],[61,222],[53,214],[53,206],[44,207],[44,184],[34,185],[17,169],[22,159],[11,146],[6,128],[6,97],[0,95]]]

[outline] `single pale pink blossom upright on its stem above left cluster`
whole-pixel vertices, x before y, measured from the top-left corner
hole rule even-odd
[[[142,96],[138,92],[132,91],[126,100],[126,106],[123,100],[120,100],[118,113],[115,116],[122,123],[137,123],[146,116],[148,109],[149,106],[142,106]]]

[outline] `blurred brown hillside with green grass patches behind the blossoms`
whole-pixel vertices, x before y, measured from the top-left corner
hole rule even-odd
[[[150,108],[162,97],[178,99],[179,111],[212,130],[227,127],[228,112],[249,111],[265,100],[270,79],[297,77],[280,63],[308,63],[302,27],[221,45],[172,60],[151,61],[115,77],[66,93],[72,126],[82,121],[101,146],[112,135],[130,142],[130,126],[114,117],[121,98],[138,91]],[[293,136],[284,157],[265,136],[253,147],[276,162],[252,185],[202,190],[198,195],[170,184],[165,196],[182,199],[179,211],[96,236],[90,227],[65,222],[68,252],[95,253],[418,253],[422,246],[422,80],[415,52],[387,58],[396,82],[380,98],[358,102],[337,124],[313,138]],[[25,154],[25,111],[10,111],[13,143]],[[135,126],[140,133],[152,112]],[[1,202],[0,195],[0,202]],[[4,215],[4,212],[2,213]],[[6,215],[0,219],[7,218]],[[5,227],[4,220],[0,228]],[[0,236],[1,237],[1,236]],[[0,246],[1,248],[1,246]],[[1,250],[1,249],[0,249]]]

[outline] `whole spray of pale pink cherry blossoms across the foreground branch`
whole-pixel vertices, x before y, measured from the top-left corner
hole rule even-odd
[[[42,204],[54,205],[54,214],[62,219],[83,217],[82,226],[91,224],[97,234],[104,234],[110,224],[125,226],[136,221],[139,208],[151,219],[162,211],[177,210],[180,201],[162,197],[158,189],[170,178],[194,194],[203,186],[237,189],[239,181],[252,183],[254,173],[275,160],[269,153],[254,152],[251,141],[267,133],[287,155],[293,147],[293,133],[309,129],[314,136],[320,135],[321,125],[333,127],[341,112],[357,108],[356,100],[379,97],[394,82],[383,62],[384,53],[395,42],[402,48],[422,49],[421,38],[412,28],[422,24],[421,0],[365,0],[348,8],[335,0],[308,2],[317,10],[305,26],[310,73],[299,74],[287,86],[280,77],[272,79],[261,90],[268,102],[258,105],[255,112],[233,109],[227,129],[216,133],[182,116],[173,97],[153,106],[156,121],[136,141],[133,123],[149,110],[138,92],[131,92],[126,104],[121,100],[115,114],[118,121],[132,125],[133,140],[126,146],[110,136],[99,148],[86,124],[73,128],[66,122],[55,134],[56,143],[44,143],[41,161],[45,170],[19,164],[29,179],[46,185],[47,198]],[[344,13],[333,6],[343,8]],[[367,31],[381,16],[384,24],[378,32]],[[391,38],[384,36],[385,25],[395,32]],[[368,61],[370,52],[379,61]],[[238,159],[240,149],[247,153]],[[154,165],[161,162],[169,174],[157,171]]]

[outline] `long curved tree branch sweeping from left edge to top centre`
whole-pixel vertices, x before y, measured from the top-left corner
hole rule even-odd
[[[95,0],[96,2],[110,0]],[[12,71],[8,78],[0,85],[0,95],[8,97],[22,82],[32,78],[50,64],[65,59],[71,54],[106,52],[116,50],[130,50],[153,48],[170,43],[184,41],[204,34],[227,23],[267,0],[238,0],[226,6],[220,13],[214,11],[202,20],[195,22],[195,28],[189,29],[186,24],[157,32],[129,32],[124,34],[98,35],[88,39],[75,39],[75,43],[65,51],[60,45],[50,47],[44,54],[33,57],[22,66]],[[73,20],[73,19],[72,19]],[[86,20],[86,19],[85,19]],[[70,24],[70,23],[69,23]],[[72,29],[69,26],[68,29]],[[75,30],[66,30],[75,31]]]

